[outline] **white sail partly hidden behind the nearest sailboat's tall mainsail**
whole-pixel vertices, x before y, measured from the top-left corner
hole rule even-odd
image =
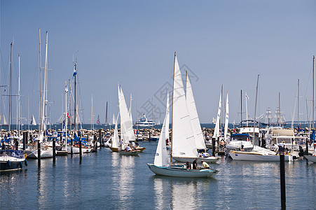
[[[191,118],[191,126],[194,134],[195,145],[198,149],[205,149],[205,141],[203,139],[200,120],[198,118],[198,111],[196,110],[195,100],[188,74],[186,74],[186,106],[188,106],[188,113]]]

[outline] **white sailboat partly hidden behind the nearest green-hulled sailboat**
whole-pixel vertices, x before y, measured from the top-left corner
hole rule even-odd
[[[195,158],[198,158],[199,160],[203,160],[205,162],[217,162],[219,160],[219,157],[214,157],[214,156],[212,157],[206,152],[207,148],[205,146],[205,141],[203,139],[200,120],[198,118],[198,111],[196,110],[195,100],[193,97],[193,91],[192,91],[191,83],[190,83],[187,73],[186,73],[186,106],[188,109],[188,115],[190,116],[191,129],[194,136],[195,147],[200,153],[200,155],[197,155],[193,158],[186,157],[184,155],[177,155],[177,156],[174,156],[174,160],[177,160],[179,162],[187,162],[187,161],[193,162]]]

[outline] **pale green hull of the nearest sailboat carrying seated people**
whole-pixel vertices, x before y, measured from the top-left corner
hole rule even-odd
[[[176,177],[190,177],[190,178],[210,178],[217,174],[219,171],[214,169],[201,169],[201,170],[195,170],[195,169],[184,169],[182,166],[174,166],[174,167],[158,167],[153,164],[147,163],[149,169],[151,169],[151,172],[157,174],[157,175],[163,175],[163,176],[176,176]]]

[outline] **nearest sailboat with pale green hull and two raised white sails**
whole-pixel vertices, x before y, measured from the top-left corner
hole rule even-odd
[[[155,155],[156,164],[147,163],[147,165],[153,173],[163,176],[212,177],[219,171],[214,169],[186,169],[184,165],[172,165],[172,159],[174,157],[198,157],[198,151],[195,146],[195,139],[191,128],[191,118],[186,105],[184,85],[182,83],[181,72],[175,52],[172,92],[172,146],[170,165],[165,158],[167,156],[165,139],[161,136]],[[166,118],[163,126],[165,126],[165,124]]]

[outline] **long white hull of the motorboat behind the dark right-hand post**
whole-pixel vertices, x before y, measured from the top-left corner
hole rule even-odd
[[[262,155],[261,153],[255,152],[230,152],[231,158],[233,160],[244,160],[244,161],[259,161],[259,162],[279,162],[280,155]],[[293,161],[292,155],[284,155],[284,160],[286,162]]]

